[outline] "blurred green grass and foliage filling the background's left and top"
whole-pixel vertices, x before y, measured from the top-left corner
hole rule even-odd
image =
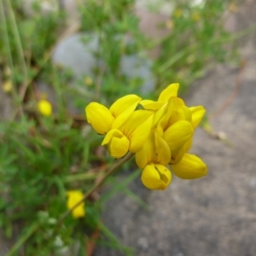
[[[232,36],[224,31],[222,19],[228,3],[209,0],[199,7],[190,1],[173,1],[172,15],[160,24],[168,29],[163,38],[148,38],[141,31],[132,0],[80,3],[80,32],[85,34],[84,44],[98,38],[92,52],[97,61],[92,77],[84,73],[84,78],[69,86],[74,81],[72,71],[50,61],[66,28],[66,14],[61,9],[42,13],[40,1],[35,1],[32,14],[27,15],[23,1],[0,0],[0,70],[3,83],[13,85],[15,103],[15,117],[0,124],[0,227],[8,237],[14,235],[16,224],[20,227],[19,239],[8,255],[55,255],[67,247],[75,250],[76,245],[79,252],[71,255],[85,255],[84,241],[90,241],[97,229],[99,244],[134,254],[102,224],[101,212],[115,193],[125,193],[147,207],[127,189],[139,172],[120,183],[109,177],[111,189],[99,200],[91,196],[85,202],[84,218],[68,215],[60,221],[67,210],[67,190],[87,193],[111,163],[99,147],[101,137],[90,131],[84,119],[84,107],[93,100],[111,104],[119,96],[141,94],[143,77],[121,70],[127,56],[137,59],[135,70],[145,61],[153,63],[154,90],[149,94],[174,82],[185,90],[206,73],[209,64],[230,61],[236,52],[226,50],[231,49]],[[151,60],[148,50],[156,46],[160,46],[160,55]],[[36,106],[45,97],[38,80],[50,84],[55,96],[54,114],[48,118]],[[71,98],[79,114],[70,111]]]

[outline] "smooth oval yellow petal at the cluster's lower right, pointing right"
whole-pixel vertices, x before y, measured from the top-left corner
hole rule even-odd
[[[177,177],[194,179],[207,175],[206,164],[195,154],[184,154],[183,159],[177,165],[171,166]]]

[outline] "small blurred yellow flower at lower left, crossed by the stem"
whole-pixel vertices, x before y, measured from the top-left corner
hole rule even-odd
[[[84,194],[79,190],[67,191],[67,209],[71,210],[84,197]],[[85,215],[84,202],[80,203],[72,211],[73,218],[82,218]]]

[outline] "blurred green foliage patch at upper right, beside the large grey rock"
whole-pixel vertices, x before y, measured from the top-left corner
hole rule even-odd
[[[224,30],[224,11],[229,3],[209,0],[195,6],[192,1],[177,1],[170,20],[172,30],[162,41],[154,65],[159,90],[170,80],[178,81],[185,90],[205,75],[209,64],[237,60],[236,51],[227,50],[230,34]]]

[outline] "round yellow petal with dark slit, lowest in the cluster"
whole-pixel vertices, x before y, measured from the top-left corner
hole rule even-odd
[[[150,164],[143,169],[141,178],[148,189],[164,190],[172,181],[172,173],[166,166]]]

